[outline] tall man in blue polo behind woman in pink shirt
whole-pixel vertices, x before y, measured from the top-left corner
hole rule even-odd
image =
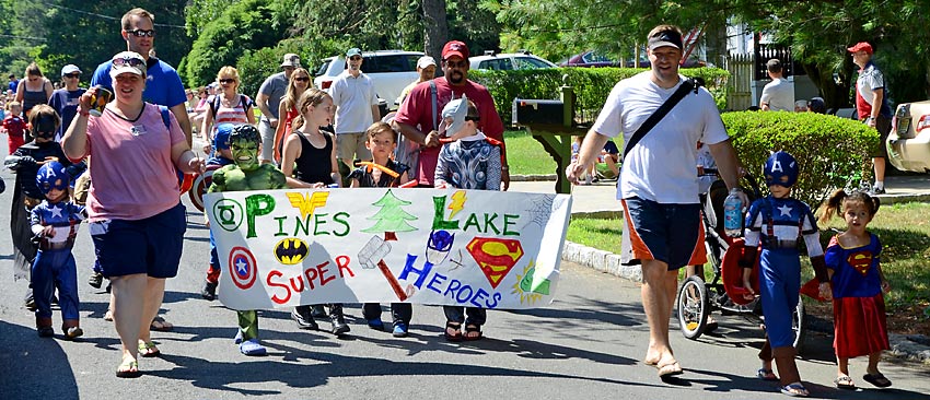
[[[123,38],[126,39],[127,49],[141,55],[148,63],[146,91],[142,92],[142,99],[147,103],[171,108],[181,125],[181,129],[187,137],[187,144],[190,145],[190,119],[187,117],[187,108],[184,105],[187,96],[184,93],[181,77],[167,62],[149,56],[149,50],[154,47],[155,42],[155,16],[143,9],[136,8],[127,11],[120,23],[123,24]],[[101,85],[113,90],[113,81],[109,78],[111,66],[112,61],[97,66],[91,80],[91,86]]]

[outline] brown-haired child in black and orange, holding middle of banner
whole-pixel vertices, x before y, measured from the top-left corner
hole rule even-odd
[[[364,164],[349,174],[350,187],[390,188],[406,184],[409,180],[407,170],[410,167],[391,160],[391,154],[394,154],[394,149],[397,146],[397,132],[390,125],[379,121],[365,130],[365,149],[371,152],[373,163]],[[381,321],[381,304],[365,303],[362,306],[362,315],[369,328],[384,330],[384,322]],[[412,315],[414,307],[409,303],[391,303],[395,338],[407,336]]]

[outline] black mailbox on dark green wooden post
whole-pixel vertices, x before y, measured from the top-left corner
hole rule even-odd
[[[562,82],[568,75],[562,77]],[[560,87],[561,99],[513,99],[513,127],[526,128],[533,139],[543,143],[556,161],[556,192],[570,193],[571,183],[565,170],[571,161],[571,137],[588,132],[588,126],[574,121],[574,90],[567,83]]]

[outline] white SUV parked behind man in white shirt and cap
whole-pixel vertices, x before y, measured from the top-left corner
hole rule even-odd
[[[417,60],[422,56],[421,51],[363,51],[362,72],[371,77],[377,97],[385,99],[388,105],[394,105],[394,99],[400,96],[404,87],[419,78]],[[314,73],[316,78],[313,79],[313,84],[316,87],[328,90],[336,77],[344,70],[346,70],[345,55],[324,58],[323,63]],[[392,106],[392,108],[395,107]]]

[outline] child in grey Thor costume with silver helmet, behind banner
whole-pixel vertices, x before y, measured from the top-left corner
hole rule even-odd
[[[449,102],[442,109],[440,134],[447,139],[435,165],[437,188],[500,190],[500,142],[478,130],[478,107],[463,95]],[[449,341],[479,340],[487,310],[479,307],[443,306],[445,311],[445,339]],[[467,316],[467,319],[466,319]],[[465,334],[462,334],[462,323]]]

